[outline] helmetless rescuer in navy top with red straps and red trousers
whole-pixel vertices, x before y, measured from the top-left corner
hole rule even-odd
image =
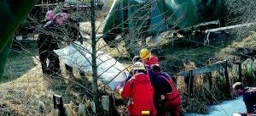
[[[180,116],[181,97],[173,84],[172,77],[162,72],[160,65],[152,67],[154,71],[154,106],[157,116]]]

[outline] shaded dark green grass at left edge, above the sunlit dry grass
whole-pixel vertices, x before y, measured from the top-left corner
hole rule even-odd
[[[34,59],[35,56],[38,56],[36,40],[32,40],[21,47],[24,49],[10,49],[9,58],[3,72],[3,78],[0,80],[1,83],[16,80],[21,75],[26,74],[28,70],[35,67],[36,63]]]

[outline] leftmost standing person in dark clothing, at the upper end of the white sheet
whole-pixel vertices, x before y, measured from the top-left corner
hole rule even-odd
[[[38,47],[40,52],[40,60],[42,62],[43,73],[47,75],[58,76],[61,74],[61,66],[58,55],[54,50],[58,49],[58,38],[61,38],[61,24],[63,20],[61,14],[56,14],[52,21],[48,21],[44,25],[44,30],[38,36]],[[49,59],[47,67],[46,60]]]

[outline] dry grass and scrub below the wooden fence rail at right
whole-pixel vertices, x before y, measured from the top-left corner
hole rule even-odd
[[[184,64],[185,70],[195,69],[195,63]],[[189,97],[188,88],[183,80],[184,77],[177,76],[177,90],[182,95],[183,113],[207,113],[207,107],[226,99],[224,93],[224,77],[218,71],[213,71],[210,75],[212,87],[209,86],[209,75],[195,76],[193,80],[193,96]],[[231,77],[232,78],[232,77]]]

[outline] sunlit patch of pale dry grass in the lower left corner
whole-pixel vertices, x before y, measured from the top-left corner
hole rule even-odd
[[[42,105],[52,106],[51,97],[54,92],[48,90],[43,76],[38,74],[39,70],[38,65],[28,70],[24,75],[21,75],[20,78],[0,85],[0,101],[9,104],[7,107],[1,108],[3,110],[1,113],[5,114],[9,112],[9,108],[14,108],[19,109],[16,112],[21,115],[22,113],[26,115],[41,115],[40,107]],[[43,108],[43,112],[47,112],[52,107]]]

